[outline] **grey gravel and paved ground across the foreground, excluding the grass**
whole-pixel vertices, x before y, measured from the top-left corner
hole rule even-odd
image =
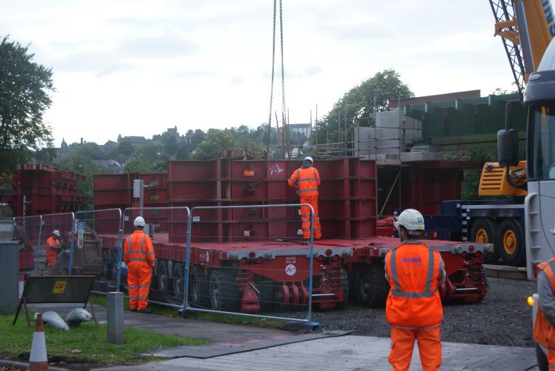
[[[444,307],[443,370],[536,370],[531,340],[531,309],[526,297],[535,284],[489,278],[488,296],[479,304]],[[65,314],[69,307],[37,306]],[[105,320],[105,309],[95,306]],[[348,305],[342,311],[315,312],[324,332],[296,334],[279,329],[202,320],[125,313],[126,326],[165,334],[211,338],[212,344],[153,350],[170,361],[133,365],[133,370],[391,370],[389,330],[384,309]],[[343,336],[342,336],[343,335]],[[46,336],[48,334],[46,333]],[[472,356],[469,356],[472,354]],[[420,369],[418,350],[413,368]],[[75,369],[87,370],[83,365]],[[110,370],[130,370],[118,366]]]

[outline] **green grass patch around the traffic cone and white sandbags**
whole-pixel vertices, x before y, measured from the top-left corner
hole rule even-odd
[[[0,316],[0,358],[24,360],[26,356],[28,359],[34,326],[27,327],[26,321],[22,318],[12,326],[12,320],[13,316]],[[108,343],[106,331],[105,325],[95,325],[92,322],[85,322],[69,331],[45,325],[44,334],[49,358],[62,357],[70,361],[85,359],[89,363],[102,365],[141,363],[154,360],[153,357],[139,356],[139,353],[147,350],[210,343],[208,339],[157,334],[153,331],[126,327],[123,333],[125,343],[115,345]]]

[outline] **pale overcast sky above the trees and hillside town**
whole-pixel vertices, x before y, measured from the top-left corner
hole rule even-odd
[[[416,96],[511,89],[487,0],[283,3],[292,123],[309,122],[310,110],[314,119],[316,105],[322,117],[388,68]],[[271,0],[0,0],[0,9],[0,35],[30,43],[53,69],[46,120],[56,146],[268,121]],[[279,111],[279,81],[274,96]]]

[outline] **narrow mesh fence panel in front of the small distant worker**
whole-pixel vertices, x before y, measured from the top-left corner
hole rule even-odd
[[[39,275],[71,275],[74,254],[75,214],[43,214],[37,254]],[[59,235],[59,236],[58,236]],[[42,257],[46,264],[42,264]]]

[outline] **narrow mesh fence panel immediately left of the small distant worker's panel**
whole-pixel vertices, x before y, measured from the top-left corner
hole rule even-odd
[[[42,232],[42,216],[13,218],[13,238],[20,241],[19,270],[40,275],[46,270],[46,250]]]

